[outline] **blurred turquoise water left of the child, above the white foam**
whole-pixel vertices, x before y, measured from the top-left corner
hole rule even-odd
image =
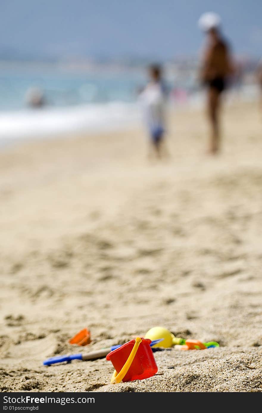
[[[137,89],[145,82],[146,76],[139,72],[85,73],[49,66],[0,66],[0,111],[25,108],[26,93],[32,87],[42,90],[50,107],[134,102]]]

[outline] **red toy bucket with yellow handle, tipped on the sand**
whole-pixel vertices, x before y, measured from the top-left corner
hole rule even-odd
[[[137,337],[106,356],[115,371],[111,377],[111,384],[143,380],[156,374],[156,365],[151,340]]]

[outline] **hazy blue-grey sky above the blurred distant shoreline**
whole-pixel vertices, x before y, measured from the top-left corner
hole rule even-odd
[[[262,56],[262,0],[0,0],[0,51],[49,57],[197,55],[203,12],[238,55]]]

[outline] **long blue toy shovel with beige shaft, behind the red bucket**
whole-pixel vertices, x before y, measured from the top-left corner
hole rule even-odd
[[[154,344],[161,342],[161,340],[162,339],[152,341],[150,343],[150,347],[152,347]],[[64,361],[70,363],[72,360],[87,361],[87,360],[95,360],[96,358],[103,358],[103,357],[106,357],[106,355],[109,354],[110,351],[119,349],[121,345],[122,344],[117,344],[116,346],[107,347],[106,349],[91,351],[90,353],[87,353],[87,354],[83,354],[83,353],[63,354],[61,356],[50,357],[50,358],[47,358],[47,360],[43,361],[43,365],[50,366],[51,364],[63,363]]]

